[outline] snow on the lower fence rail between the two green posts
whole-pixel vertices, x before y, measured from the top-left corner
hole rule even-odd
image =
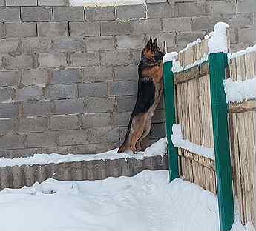
[[[174,147],[181,147],[188,150],[191,153],[201,155],[206,158],[214,160],[214,148],[205,147],[202,145],[191,143],[188,140],[183,139],[183,134],[180,124],[173,124],[171,141]]]

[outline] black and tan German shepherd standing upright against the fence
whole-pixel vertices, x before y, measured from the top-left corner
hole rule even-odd
[[[138,67],[139,81],[137,101],[131,114],[125,141],[118,153],[131,149],[133,153],[143,151],[141,141],[151,130],[151,118],[163,93],[163,56],[157,47],[157,39],[150,38],[142,50]]]

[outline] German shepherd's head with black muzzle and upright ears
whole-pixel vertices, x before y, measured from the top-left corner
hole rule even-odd
[[[150,38],[145,48],[142,50],[141,58],[142,60],[159,62],[163,60],[164,55],[160,48],[157,47],[157,38],[154,39],[154,42],[152,42]]]

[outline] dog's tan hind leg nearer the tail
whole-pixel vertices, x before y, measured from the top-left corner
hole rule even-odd
[[[136,144],[145,130],[144,128],[145,128],[146,121],[147,121],[146,114],[142,115],[140,118],[137,118],[134,121],[134,124],[133,124],[134,130],[131,133],[131,144],[130,144],[130,147],[131,147],[131,150],[133,153],[138,152],[138,150],[136,148]]]

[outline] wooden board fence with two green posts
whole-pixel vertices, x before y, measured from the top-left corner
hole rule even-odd
[[[229,47],[228,31],[226,38]],[[182,175],[217,194],[221,231],[232,227],[234,196],[243,224],[252,221],[256,227],[256,101],[226,104],[223,84],[229,77],[232,81],[255,77],[256,53],[228,61],[224,53],[209,54],[208,42],[209,37],[192,44],[164,64],[170,177]],[[171,111],[175,114],[168,116]],[[215,158],[174,147],[174,123],[180,124],[183,139],[214,149]]]

